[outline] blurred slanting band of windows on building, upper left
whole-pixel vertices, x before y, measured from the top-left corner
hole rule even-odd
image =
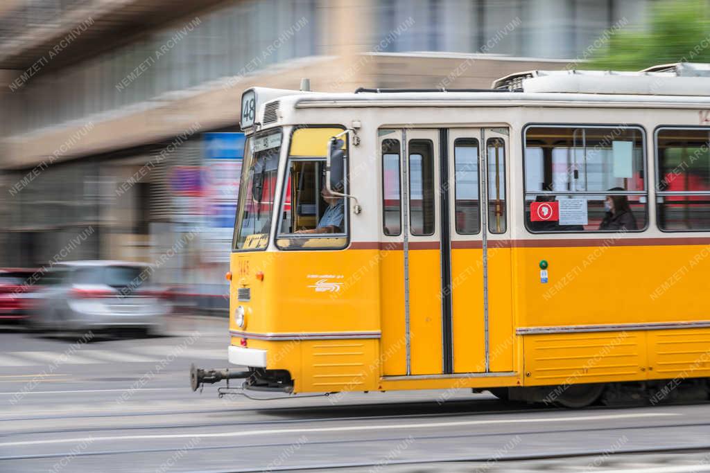
[[[231,2],[197,13],[119,49],[39,75],[3,106],[18,120],[0,133],[24,133],[143,103],[170,91],[317,54],[317,0]],[[16,104],[21,96],[22,108]]]

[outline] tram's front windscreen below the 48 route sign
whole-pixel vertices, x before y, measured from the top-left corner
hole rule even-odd
[[[234,227],[235,250],[263,250],[271,228],[281,130],[246,140]]]

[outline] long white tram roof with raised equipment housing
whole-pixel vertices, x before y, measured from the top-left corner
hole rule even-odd
[[[275,123],[293,108],[370,106],[608,106],[687,108],[710,105],[710,65],[676,63],[638,72],[528,71],[492,89],[358,89],[350,93],[254,87],[259,118]],[[263,116],[263,117],[262,117]],[[268,118],[267,118],[268,116]]]

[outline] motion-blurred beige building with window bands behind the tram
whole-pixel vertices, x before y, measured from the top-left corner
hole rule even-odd
[[[141,260],[226,293],[246,87],[488,88],[576,67],[650,3],[4,0],[0,265]]]

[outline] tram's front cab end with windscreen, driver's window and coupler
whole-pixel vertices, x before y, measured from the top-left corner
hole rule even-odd
[[[227,274],[231,368],[192,367],[192,388],[239,378],[286,393],[361,390],[360,371],[377,358],[378,306],[376,282],[346,290],[362,265],[347,250],[358,210],[347,195],[349,131],[254,123],[255,102],[245,111],[243,99],[248,138]],[[363,369],[349,381],[348,366]],[[376,370],[366,377],[374,382]]]

